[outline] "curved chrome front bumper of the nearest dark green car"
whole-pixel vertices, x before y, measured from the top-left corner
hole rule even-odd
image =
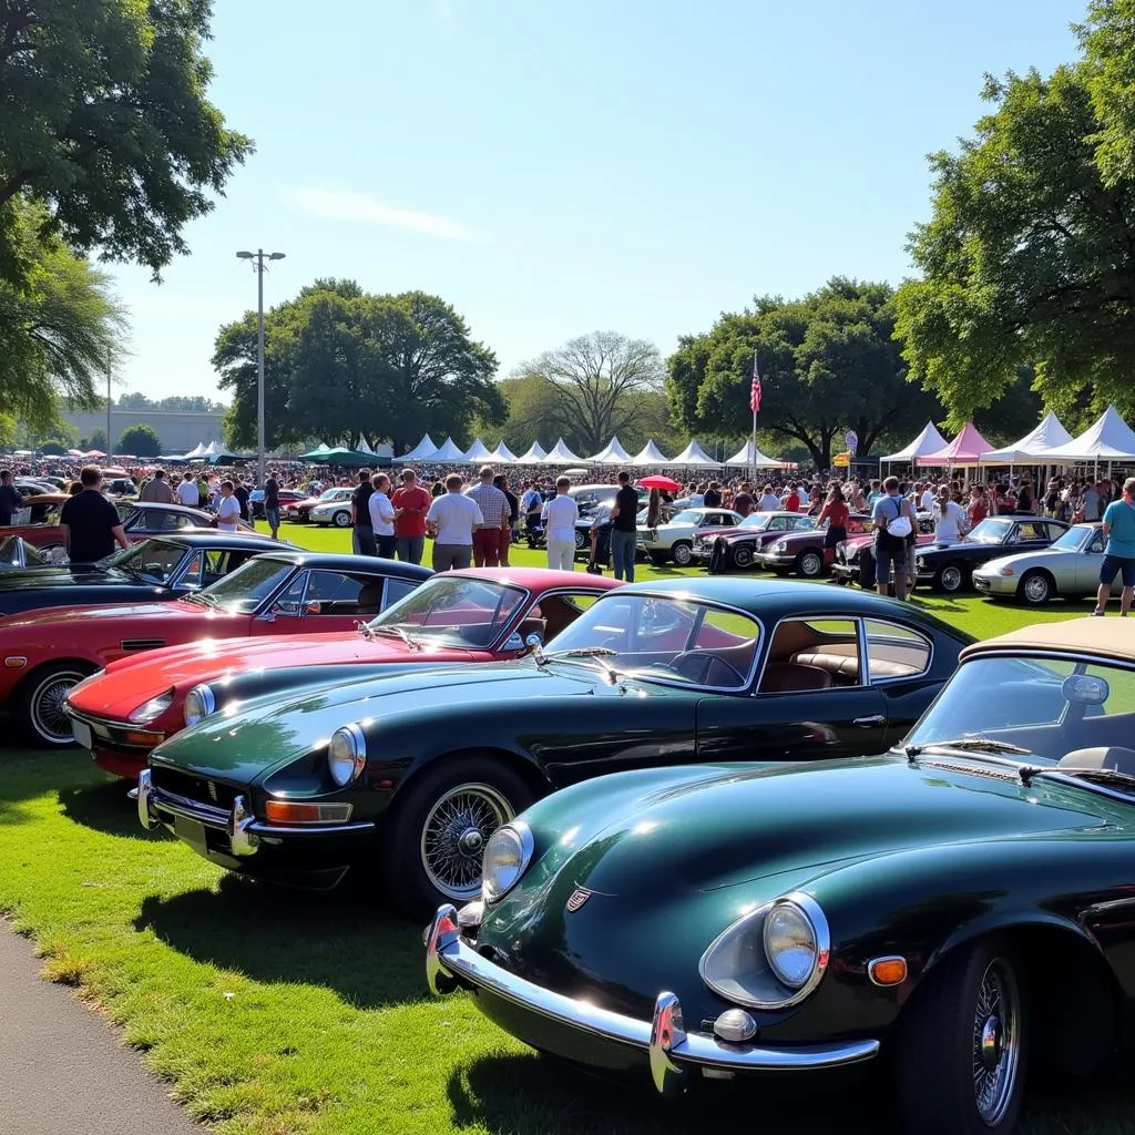
[[[815,1071],[858,1063],[878,1054],[878,1041],[842,1041],[792,1048],[726,1044],[706,1033],[687,1033],[673,993],[659,993],[654,1017],[624,1017],[554,993],[481,957],[461,936],[457,913],[440,907],[426,938],[426,980],[440,997],[455,989],[485,990],[533,1014],[647,1054],[654,1086],[664,1095],[684,1087],[693,1068],[717,1078],[735,1073]]]

